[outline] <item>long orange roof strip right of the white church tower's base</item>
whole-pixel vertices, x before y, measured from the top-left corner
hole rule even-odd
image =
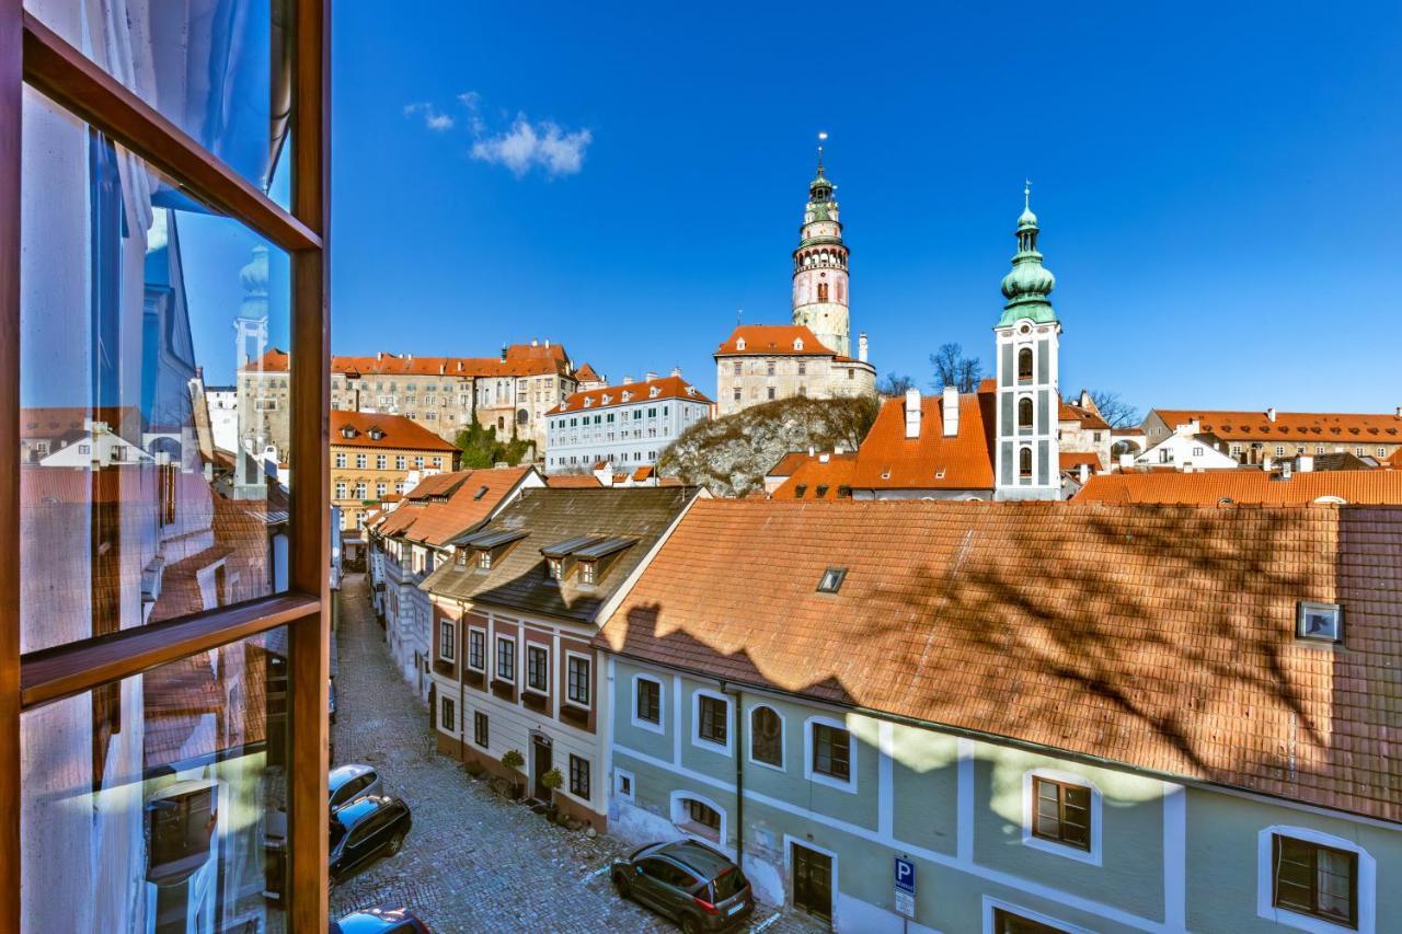
[[[1213,506],[1223,499],[1237,505],[1302,506],[1319,496],[1339,496],[1352,503],[1402,505],[1402,473],[1392,470],[1295,471],[1290,480],[1263,470],[1209,470],[1185,474],[1176,470],[1147,474],[1091,477],[1075,502],[1152,502]]]

